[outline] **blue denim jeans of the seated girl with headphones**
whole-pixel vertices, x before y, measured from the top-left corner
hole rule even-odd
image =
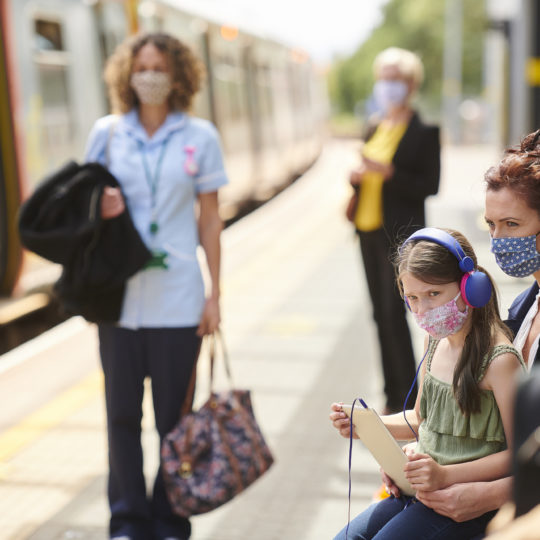
[[[458,523],[410,497],[372,504],[334,540],[469,540],[481,535],[495,512]]]

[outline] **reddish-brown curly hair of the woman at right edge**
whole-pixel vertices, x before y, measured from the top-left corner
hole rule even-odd
[[[484,179],[488,191],[509,188],[540,216],[540,129],[508,148]]]

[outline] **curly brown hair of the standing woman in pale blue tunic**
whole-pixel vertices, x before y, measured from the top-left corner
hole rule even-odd
[[[139,106],[139,99],[131,88],[131,72],[135,56],[149,43],[166,55],[170,66],[172,80],[172,90],[168,98],[170,109],[188,111],[193,97],[201,88],[205,68],[187,45],[164,33],[146,33],[128,38],[107,60],[104,78],[112,111],[126,113]]]

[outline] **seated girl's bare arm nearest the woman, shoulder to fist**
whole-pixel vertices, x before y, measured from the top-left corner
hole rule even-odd
[[[522,368],[515,355],[506,353],[495,358],[481,387],[493,391],[501,413],[507,441],[512,441],[512,415],[518,371]],[[510,382],[509,382],[510,381]],[[509,444],[509,443],[508,443]],[[510,471],[511,448],[474,461],[453,465],[439,465],[426,454],[409,458],[405,475],[418,490],[433,491],[462,482],[482,482],[505,477]]]

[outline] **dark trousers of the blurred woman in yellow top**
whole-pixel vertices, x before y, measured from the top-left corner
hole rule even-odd
[[[403,300],[399,294],[392,245],[384,229],[359,232],[360,251],[377,324],[384,374],[386,406],[393,412],[403,409],[407,392],[414,381],[416,365]],[[416,401],[416,385],[408,408]]]

